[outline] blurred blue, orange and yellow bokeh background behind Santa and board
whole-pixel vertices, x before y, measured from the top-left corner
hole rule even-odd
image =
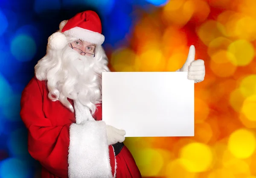
[[[176,71],[190,45],[205,61],[194,137],[126,138],[143,177],[256,178],[255,0],[0,0],[0,178],[37,177],[20,95],[47,38],[88,9],[112,71]]]

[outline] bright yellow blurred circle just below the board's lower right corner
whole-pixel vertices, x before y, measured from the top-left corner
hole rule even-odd
[[[212,165],[212,151],[206,144],[190,143],[180,151],[183,165],[189,172],[204,172]]]

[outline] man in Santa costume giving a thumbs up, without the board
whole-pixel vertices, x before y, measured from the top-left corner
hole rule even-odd
[[[133,156],[122,143],[125,130],[102,121],[102,72],[109,71],[105,37],[94,11],[60,23],[48,39],[47,54],[23,90],[20,116],[28,129],[28,150],[42,165],[43,178],[140,178]],[[204,80],[204,61],[183,68]]]

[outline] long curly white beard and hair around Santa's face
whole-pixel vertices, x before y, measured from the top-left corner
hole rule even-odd
[[[67,37],[62,50],[47,46],[47,54],[35,65],[35,76],[47,81],[48,97],[52,101],[59,100],[74,112],[68,98],[78,99],[93,114],[102,101],[102,72],[109,71],[108,58],[101,45],[96,45],[95,57],[81,56],[69,46],[75,40],[78,39]]]

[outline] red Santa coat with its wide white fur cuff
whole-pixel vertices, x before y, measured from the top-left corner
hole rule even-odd
[[[28,129],[28,150],[40,161],[42,178],[141,177],[127,147],[115,156],[108,146],[101,106],[93,115],[96,121],[78,122],[81,113],[52,102],[48,93],[46,82],[34,77],[23,90],[20,111]]]

